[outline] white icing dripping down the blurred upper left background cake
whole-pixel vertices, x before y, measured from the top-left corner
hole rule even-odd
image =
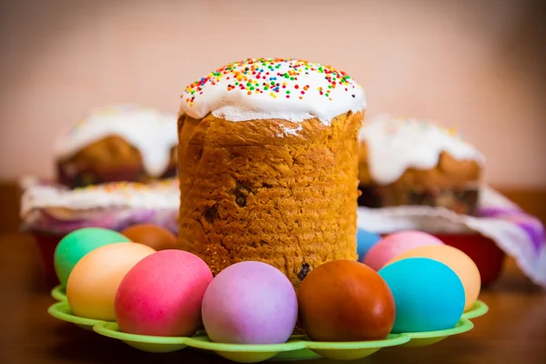
[[[96,109],[57,138],[55,155],[71,157],[107,136],[120,136],[136,147],[147,173],[159,177],[178,142],[177,116],[134,105]]]

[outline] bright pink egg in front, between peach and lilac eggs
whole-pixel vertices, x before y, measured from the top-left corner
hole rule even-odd
[[[211,281],[196,255],[158,251],[129,270],[117,288],[117,325],[131,334],[190,336],[202,327],[201,304]]]

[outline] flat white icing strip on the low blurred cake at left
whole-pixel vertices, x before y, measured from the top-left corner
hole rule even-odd
[[[112,182],[91,187],[35,185],[21,198],[21,214],[40,208],[66,208],[71,211],[111,207],[178,208],[180,191],[177,178],[152,184]]]

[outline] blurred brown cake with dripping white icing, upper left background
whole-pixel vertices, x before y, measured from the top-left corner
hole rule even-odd
[[[67,187],[175,177],[177,116],[116,105],[92,110],[56,139],[56,177]]]

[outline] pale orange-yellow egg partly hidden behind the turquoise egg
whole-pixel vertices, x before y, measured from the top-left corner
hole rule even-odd
[[[413,248],[392,258],[387,265],[405,258],[430,258],[450,267],[459,276],[465,293],[464,310],[469,310],[480,296],[480,271],[474,261],[458,248],[448,245]]]

